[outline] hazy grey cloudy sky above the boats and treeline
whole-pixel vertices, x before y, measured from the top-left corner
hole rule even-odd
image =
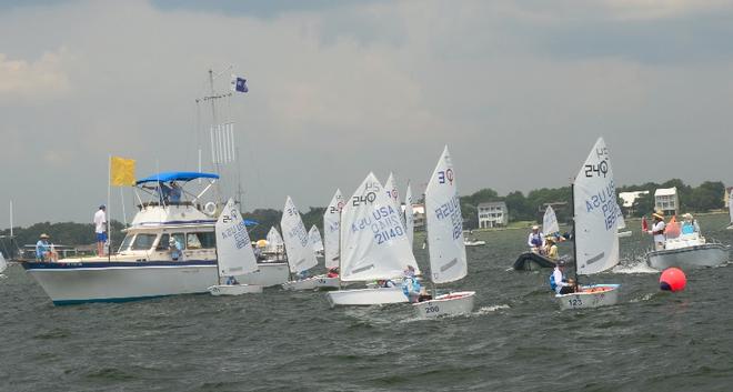
[[[248,79],[218,107],[247,210],[420,193],[445,144],[461,194],[566,185],[599,137],[617,184],[731,184],[732,38],[716,0],[2,1],[0,228],[90,222],[110,155],[209,162],[210,69]]]

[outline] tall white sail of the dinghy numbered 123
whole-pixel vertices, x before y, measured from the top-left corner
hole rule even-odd
[[[575,265],[579,274],[605,271],[619,263],[619,204],[609,149],[599,138],[573,185]]]

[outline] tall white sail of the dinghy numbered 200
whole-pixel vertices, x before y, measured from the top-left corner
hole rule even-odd
[[[445,283],[465,277],[468,263],[463,243],[463,218],[448,145],[425,189],[425,224],[431,280],[434,283]]]

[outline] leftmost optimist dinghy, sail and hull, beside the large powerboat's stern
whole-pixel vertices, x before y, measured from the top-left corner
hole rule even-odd
[[[217,233],[217,267],[219,280],[228,278],[224,284],[209,287],[212,295],[240,295],[244,293],[261,293],[262,287],[257,284],[234,283],[235,275],[244,275],[258,271],[257,258],[252,249],[250,235],[244,220],[234,200],[229,199],[214,225]]]

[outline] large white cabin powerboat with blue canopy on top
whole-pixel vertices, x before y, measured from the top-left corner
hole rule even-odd
[[[205,293],[219,280],[214,224],[223,204],[203,203],[202,197],[218,179],[213,173],[161,172],[138,180],[139,210],[116,253],[30,261],[23,269],[57,305]],[[182,185],[179,200],[170,200],[163,191],[164,183],[173,182]],[[141,194],[150,200],[142,201]],[[179,252],[171,251],[171,242],[178,243]],[[258,263],[258,268],[237,280],[263,287],[288,281],[285,262]]]

